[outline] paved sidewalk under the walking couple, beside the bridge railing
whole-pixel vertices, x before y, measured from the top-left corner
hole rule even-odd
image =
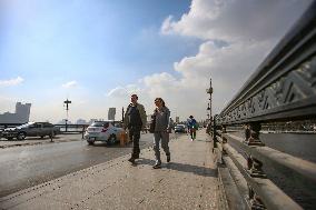
[[[211,143],[201,131],[170,141],[171,162],[152,169],[154,151],[131,166],[120,157],[0,199],[0,209],[217,209]]]

